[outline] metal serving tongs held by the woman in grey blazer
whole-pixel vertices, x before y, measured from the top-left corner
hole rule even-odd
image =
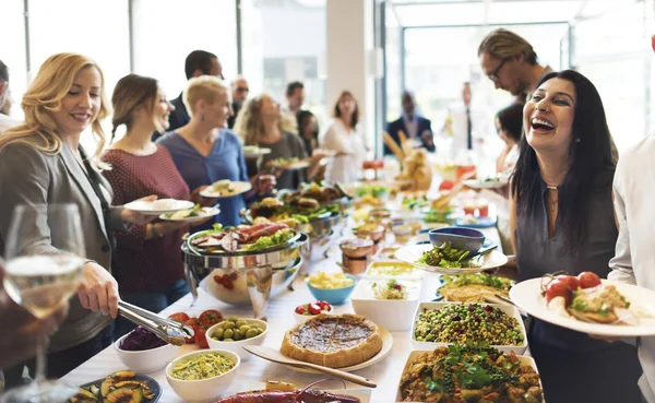
[[[139,308],[122,300],[118,301],[118,313],[155,333],[157,337],[166,343],[174,345],[183,345],[184,337],[193,337],[194,334],[193,328],[187,323],[166,319],[150,310]]]

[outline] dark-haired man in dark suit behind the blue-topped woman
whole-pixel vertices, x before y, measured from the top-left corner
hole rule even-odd
[[[187,80],[200,75],[215,75],[224,80],[223,67],[221,66],[218,58],[216,55],[204,50],[193,50],[187,56],[187,60],[184,61],[184,72],[187,73]],[[187,107],[182,102],[183,93],[184,92],[182,91],[180,96],[170,100],[172,106],[175,106],[175,110],[168,116],[168,123],[170,125],[168,130],[181,128],[191,120]]]

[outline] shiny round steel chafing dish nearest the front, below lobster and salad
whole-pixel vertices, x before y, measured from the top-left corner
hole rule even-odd
[[[269,299],[289,286],[309,248],[309,236],[299,233],[285,246],[265,251],[211,253],[192,247],[193,235],[182,245],[184,273],[193,301],[201,286],[231,305],[252,304],[257,318],[266,317]]]

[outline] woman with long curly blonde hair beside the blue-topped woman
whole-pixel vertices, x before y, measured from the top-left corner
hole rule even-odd
[[[287,121],[283,119],[279,104],[270,95],[263,94],[250,99],[239,112],[235,122],[235,131],[243,139],[246,145],[258,145],[271,149],[263,156],[259,169],[267,169],[278,158],[308,157],[305,144],[297,134],[288,131]],[[325,155],[318,151],[311,156],[311,165],[306,170],[284,170],[277,176],[278,189],[296,189],[307,180],[311,180],[320,168],[320,161]]]

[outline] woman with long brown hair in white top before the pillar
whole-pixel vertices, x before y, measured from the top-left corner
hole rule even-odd
[[[320,141],[323,149],[336,152],[325,174],[325,179],[333,183],[358,179],[367,152],[364,135],[357,130],[358,121],[357,100],[349,91],[342,92],[334,106],[334,120],[327,125]]]

